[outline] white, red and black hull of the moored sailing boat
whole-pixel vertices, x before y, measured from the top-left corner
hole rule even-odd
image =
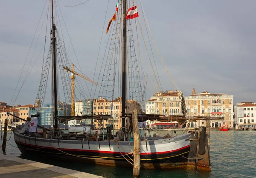
[[[133,141],[70,141],[35,138],[14,132],[24,155],[50,155],[64,161],[105,166],[132,167]],[[186,169],[190,134],[160,140],[141,141],[141,167],[145,169]]]

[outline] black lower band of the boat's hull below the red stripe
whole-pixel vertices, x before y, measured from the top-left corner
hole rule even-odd
[[[57,149],[50,149],[47,147],[35,147],[29,144],[22,144],[15,141],[20,152],[24,155],[41,155],[48,157],[54,157],[64,161],[79,161],[92,164],[101,164],[107,166],[121,166],[121,167],[131,167],[132,165],[128,163],[131,155],[122,156],[121,154],[113,153],[97,153],[88,151],[73,151],[64,150],[61,152]],[[141,155],[140,162],[141,166],[145,169],[175,169],[179,167],[180,164],[184,165],[187,162],[187,157],[190,147],[185,147],[175,152],[163,153],[163,154],[147,154]],[[70,154],[70,155],[69,155]],[[74,156],[75,155],[75,156]],[[116,157],[119,156],[119,157]],[[128,157],[130,156],[130,158]],[[115,158],[114,158],[115,157]],[[186,158],[184,158],[186,157]],[[163,166],[164,165],[164,166]]]

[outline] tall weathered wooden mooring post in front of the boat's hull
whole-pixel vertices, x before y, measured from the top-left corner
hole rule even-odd
[[[134,168],[133,178],[140,177],[140,132],[138,124],[137,109],[132,111],[132,127],[134,134]]]

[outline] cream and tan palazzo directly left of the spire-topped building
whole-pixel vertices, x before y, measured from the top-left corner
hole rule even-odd
[[[146,114],[185,115],[185,99],[178,90],[157,92],[146,101]],[[168,129],[178,126],[177,122],[146,121],[146,126],[157,129]],[[175,127],[176,128],[176,127]]]

